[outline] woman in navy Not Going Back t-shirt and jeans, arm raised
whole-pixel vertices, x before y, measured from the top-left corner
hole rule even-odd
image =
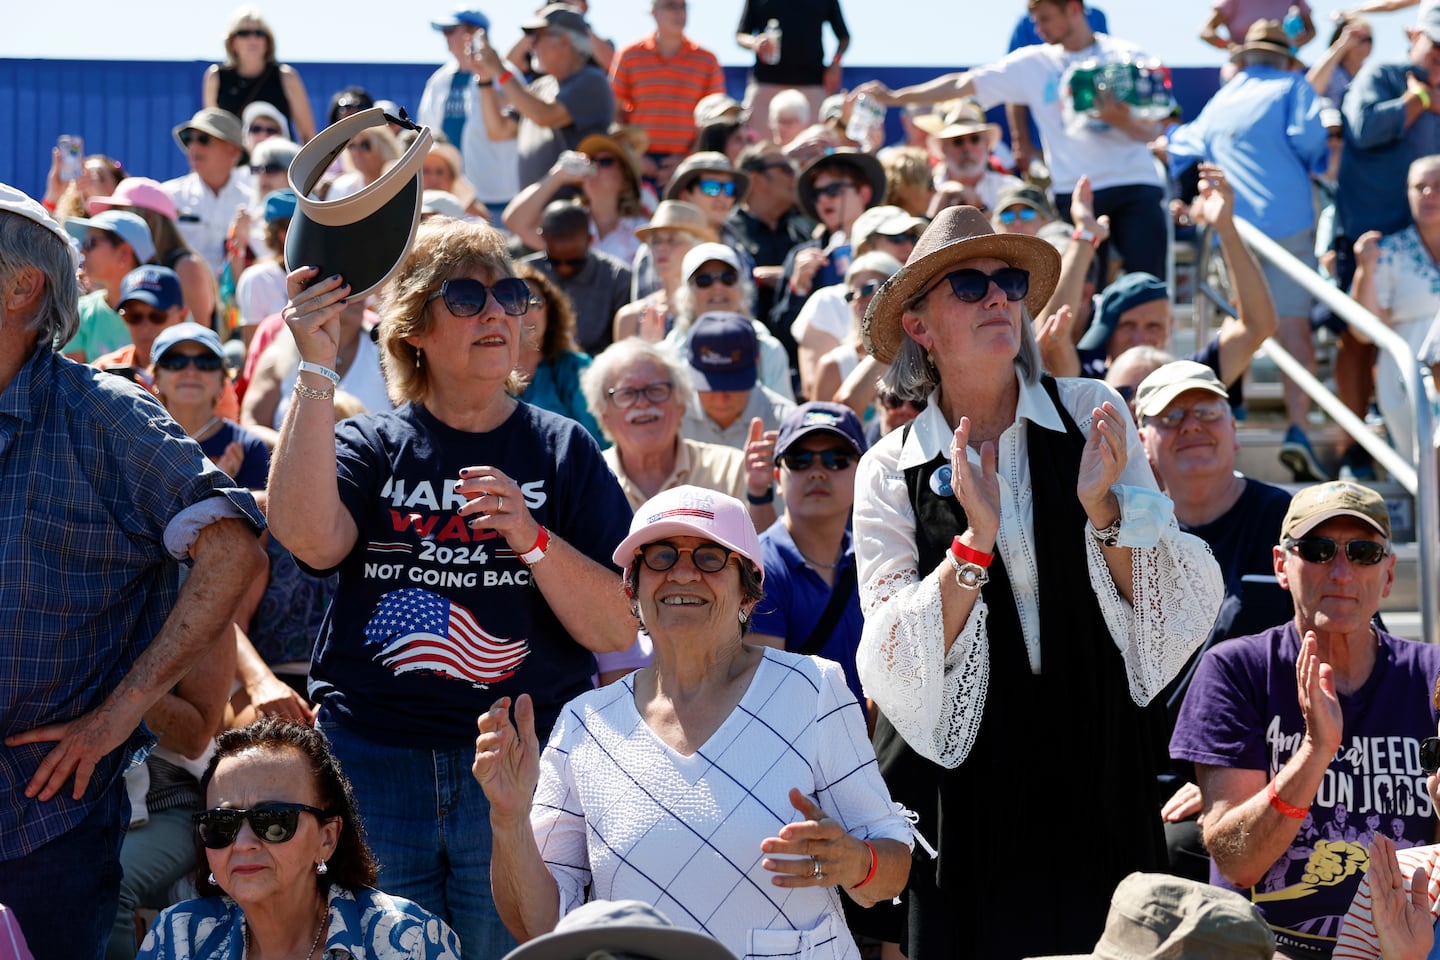
[[[590,685],[593,655],[634,642],[609,566],[629,505],[579,423],[511,394],[530,289],[494,229],[420,225],[380,307],[399,406],[338,426],[317,368],[333,367],[350,291],[310,268],[288,282],[305,363],[269,520],[304,566],[340,574],[311,665],[317,724],[354,784],[382,887],[446,917],[467,954],[501,956],[475,718],[528,692],[546,737]]]

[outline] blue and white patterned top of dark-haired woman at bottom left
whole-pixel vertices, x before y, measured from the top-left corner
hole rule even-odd
[[[459,960],[459,937],[423,907],[377,889],[330,888],[323,960]],[[135,960],[243,960],[245,914],[229,897],[186,900],[156,917]]]

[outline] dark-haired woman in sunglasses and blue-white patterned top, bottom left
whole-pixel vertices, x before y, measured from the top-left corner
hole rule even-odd
[[[269,718],[228,730],[200,786],[210,805],[194,815],[200,897],[163,911],[140,957],[459,959],[439,917],[374,889],[354,793],[314,727]]]

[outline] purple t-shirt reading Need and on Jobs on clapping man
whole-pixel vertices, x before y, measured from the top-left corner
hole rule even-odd
[[[1293,622],[1217,643],[1195,671],[1171,756],[1273,777],[1305,740],[1295,684],[1299,653]],[[1365,848],[1375,833],[1395,846],[1430,842],[1434,809],[1420,741],[1436,733],[1430,691],[1437,672],[1440,648],[1381,632],[1369,678],[1339,695],[1345,735],[1300,832],[1254,887],[1238,889],[1264,914],[1286,956],[1331,954],[1369,869]],[[1237,889],[1214,865],[1210,882]]]

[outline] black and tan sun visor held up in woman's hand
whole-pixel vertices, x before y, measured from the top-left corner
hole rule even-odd
[[[387,122],[379,107],[351,114],[315,134],[289,164],[289,189],[298,203],[285,235],[285,262],[291,269],[318,268],[320,278],[338,273],[350,285],[350,298],[379,289],[415,242],[423,206],[420,166],[431,151],[431,128],[420,127],[405,155],[359,193],[340,200],[315,200],[310,194],[354,137]]]

